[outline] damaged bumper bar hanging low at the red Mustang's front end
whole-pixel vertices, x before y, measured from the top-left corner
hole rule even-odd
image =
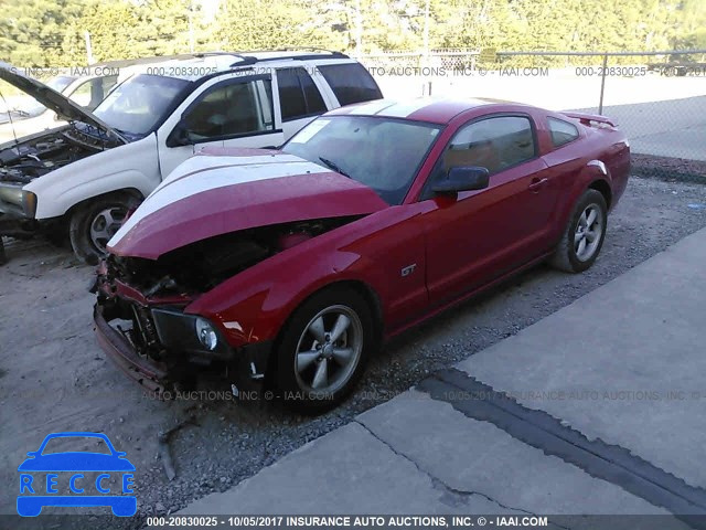
[[[167,367],[138,356],[132,344],[107,322],[98,304],[94,306],[93,320],[98,343],[120,370],[158,395],[167,390]]]

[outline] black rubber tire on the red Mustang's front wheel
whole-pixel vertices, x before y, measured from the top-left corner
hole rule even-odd
[[[331,333],[325,333],[327,341],[318,344],[314,335],[309,331],[310,325],[327,310],[331,312],[324,312],[322,321],[325,329],[331,326],[333,329],[330,330]],[[350,318],[346,316],[349,314]],[[329,339],[332,338],[335,322],[341,315],[349,318],[350,325],[344,331],[344,337],[330,342]],[[356,347],[359,340],[362,340],[360,350]],[[333,409],[355,388],[365,370],[367,358],[376,349],[375,341],[372,310],[359,293],[347,287],[332,287],[313,295],[292,314],[280,332],[275,351],[275,373],[271,374],[276,386],[275,395],[286,407],[303,414],[318,414]],[[351,348],[347,348],[349,343],[352,344]],[[321,359],[309,361],[310,364],[307,368],[297,370],[298,352],[314,351],[317,344],[321,347]],[[360,351],[357,360],[347,361],[349,364],[345,365],[341,363],[333,352],[342,349],[353,350],[353,354]],[[324,354],[324,351],[328,353]],[[333,382],[323,390],[315,390],[313,383],[322,362],[331,367],[330,369],[324,367],[324,370],[331,370]],[[310,375],[313,377],[312,385],[306,383]],[[336,380],[336,377],[340,380]]]

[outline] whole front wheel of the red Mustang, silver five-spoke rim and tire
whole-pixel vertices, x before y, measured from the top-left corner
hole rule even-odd
[[[314,295],[280,336],[275,374],[280,401],[309,413],[338,405],[363,373],[373,341],[370,307],[355,290]]]

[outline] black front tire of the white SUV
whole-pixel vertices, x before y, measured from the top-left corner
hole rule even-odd
[[[110,239],[109,235],[117,232],[127,212],[137,208],[138,204],[139,201],[132,195],[114,193],[99,197],[77,208],[71,216],[71,225],[68,229],[71,246],[76,257],[84,263],[92,265],[97,264],[98,259],[106,254],[105,245]],[[103,227],[100,218],[103,216],[103,221],[105,222],[105,212],[109,212],[115,223],[110,223],[110,225],[106,227],[105,236],[94,237],[92,234],[95,234],[95,232],[92,233],[92,226]],[[97,240],[97,244],[94,243],[94,239]]]

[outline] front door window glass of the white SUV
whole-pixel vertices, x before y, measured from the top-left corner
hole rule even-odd
[[[192,140],[222,139],[272,130],[269,80],[226,82],[207,89],[186,110]]]

